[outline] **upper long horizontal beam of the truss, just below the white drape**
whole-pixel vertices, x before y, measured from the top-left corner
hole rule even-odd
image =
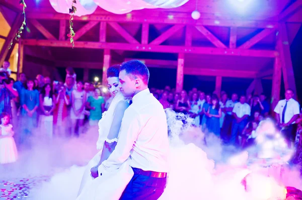
[[[44,20],[69,20],[69,15],[59,13],[28,13],[29,19],[44,19]],[[182,24],[182,25],[197,25],[197,26],[218,26],[218,27],[250,27],[250,28],[277,28],[278,22],[273,21],[242,21],[242,20],[221,20],[201,18],[193,20],[192,18],[178,18],[177,15],[173,19],[160,17],[142,17],[132,16],[128,18],[126,15],[89,15],[77,17],[74,16],[74,21],[99,21],[99,22],[120,22],[120,23],[148,23],[148,24]]]

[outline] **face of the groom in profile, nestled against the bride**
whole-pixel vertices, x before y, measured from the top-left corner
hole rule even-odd
[[[131,80],[126,71],[122,70],[119,73],[119,81],[120,91],[123,93],[123,95],[125,97],[133,97],[136,89],[135,80]]]

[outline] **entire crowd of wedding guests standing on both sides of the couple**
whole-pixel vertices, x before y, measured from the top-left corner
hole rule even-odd
[[[8,67],[9,62],[4,62],[0,70],[0,163],[16,160],[16,144],[18,149],[30,146],[29,138],[33,135],[52,138],[84,134],[87,126],[98,125],[113,99],[96,83],[77,80],[70,67],[64,82],[42,75],[30,79],[24,73],[15,82]],[[189,115],[204,133],[213,133],[224,143],[239,147],[253,144],[259,122],[272,114],[265,94],[205,94],[196,88],[176,92],[169,86],[162,90],[151,88],[150,92],[165,109]],[[302,120],[293,96],[293,91],[287,89],[285,99],[274,109],[288,146],[294,141],[296,145],[301,143]]]

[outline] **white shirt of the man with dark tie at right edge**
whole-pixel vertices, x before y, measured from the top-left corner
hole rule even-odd
[[[280,116],[280,123],[282,123],[282,113],[284,106],[286,104],[286,99],[282,99],[278,102],[277,106],[274,109],[274,112],[279,114]],[[284,113],[284,123],[288,123],[290,119],[294,115],[298,115],[300,113],[300,105],[299,103],[294,99],[289,99],[286,105],[286,110]],[[292,122],[294,124],[295,122]]]

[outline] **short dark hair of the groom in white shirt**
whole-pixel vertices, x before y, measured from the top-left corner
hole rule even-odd
[[[125,70],[131,80],[139,77],[145,85],[148,85],[150,73],[148,68],[142,62],[138,60],[124,62],[121,65],[120,70]]]

